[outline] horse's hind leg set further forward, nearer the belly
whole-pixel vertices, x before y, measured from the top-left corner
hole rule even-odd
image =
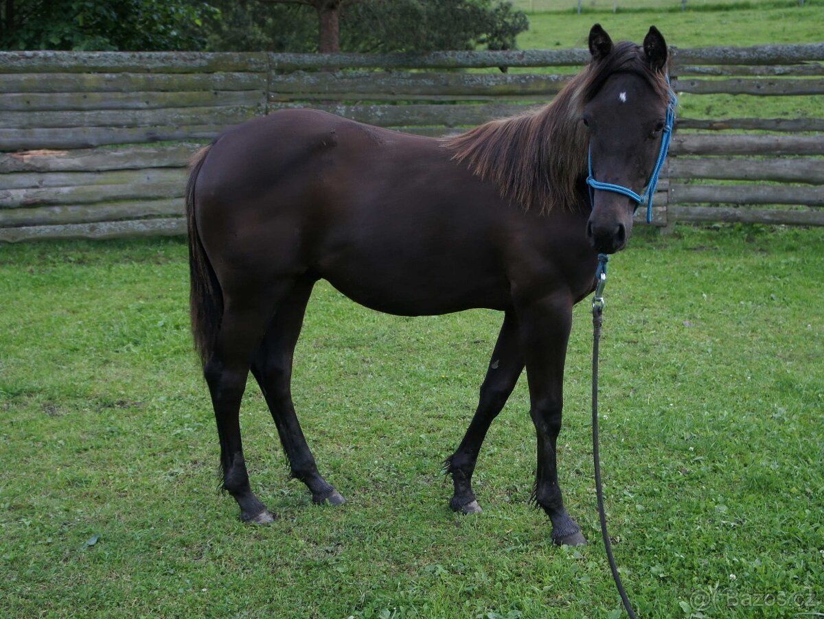
[[[318,472],[292,402],[293,351],[314,284],[314,279],[297,282],[283,298],[255,353],[251,370],[269,405],[293,477],[309,487],[315,503],[340,505],[344,503],[344,497]]]

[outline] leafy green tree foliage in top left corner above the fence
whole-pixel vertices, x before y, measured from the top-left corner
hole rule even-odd
[[[213,12],[190,0],[4,0],[0,49],[201,49]]]

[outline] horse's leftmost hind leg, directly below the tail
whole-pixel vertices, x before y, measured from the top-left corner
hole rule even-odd
[[[249,486],[241,443],[241,398],[252,353],[263,336],[274,301],[285,287],[270,289],[265,298],[259,294],[226,294],[215,348],[204,366],[218,423],[223,488],[240,505],[241,520],[256,524],[271,522],[272,515]]]

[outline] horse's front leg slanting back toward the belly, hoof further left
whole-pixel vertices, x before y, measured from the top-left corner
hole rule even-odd
[[[484,384],[480,387],[480,400],[475,417],[456,452],[447,459],[447,472],[452,473],[455,494],[449,502],[452,510],[464,514],[480,512],[480,505],[472,492],[472,473],[478,459],[480,445],[484,442],[486,432],[503,405],[507,403],[523,370],[523,356],[518,342],[517,321],[512,312],[503,318],[503,326],[489,360]]]

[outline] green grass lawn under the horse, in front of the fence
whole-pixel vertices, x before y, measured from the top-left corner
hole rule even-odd
[[[603,466],[642,617],[687,617],[695,592],[714,588],[695,617],[824,610],[822,252],[824,230],[680,227],[640,230],[611,263]],[[485,513],[447,509],[441,462],[471,417],[499,314],[395,318],[326,285],[294,394],[349,502],[317,508],[288,480],[249,389],[246,454],[276,516],[252,528],[216,491],[186,275],[179,240],[0,247],[0,614],[615,616],[592,488],[586,304],[560,477],[589,547],[552,547],[527,505],[525,381],[481,454]],[[745,604],[765,594],[784,605]]]

